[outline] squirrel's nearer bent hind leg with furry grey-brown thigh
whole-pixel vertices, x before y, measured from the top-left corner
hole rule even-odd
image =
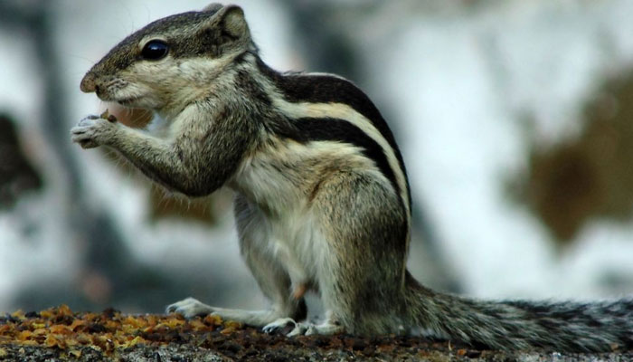
[[[326,319],[299,323],[290,335],[401,331],[407,224],[398,200],[388,181],[373,173],[339,172],[322,180],[311,207]]]

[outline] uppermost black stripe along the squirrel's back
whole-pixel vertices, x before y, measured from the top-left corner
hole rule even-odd
[[[279,73],[269,68],[266,63],[257,57],[258,67],[274,84],[281,90],[286,100],[290,102],[312,102],[312,103],[343,103],[352,107],[354,110],[362,114],[366,119],[372,122],[373,127],[383,135],[389,145],[393,148],[393,153],[398,159],[398,163],[404,174],[404,180],[407,186],[407,196],[409,205],[411,205],[411,193],[409,192],[409,179],[407,171],[404,167],[404,161],[400,149],[393,138],[392,130],[387,126],[387,122],[383,119],[380,111],[373,105],[372,100],[364,94],[363,90],[359,90],[351,81],[345,81],[340,78],[326,75],[307,75],[301,73]],[[361,133],[364,133],[359,129]],[[375,142],[374,142],[375,143]],[[377,145],[378,146],[378,145]],[[380,148],[380,146],[378,146]],[[381,150],[381,154],[383,151]],[[393,170],[386,164],[393,175]],[[381,168],[382,170],[383,168]],[[385,173],[385,176],[387,174]],[[391,178],[390,178],[391,179]],[[396,189],[399,189],[397,187]]]

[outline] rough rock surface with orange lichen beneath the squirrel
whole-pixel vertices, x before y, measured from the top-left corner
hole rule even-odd
[[[287,338],[207,316],[77,313],[61,306],[0,318],[0,361],[633,361],[633,351],[573,354],[477,350],[382,336]]]

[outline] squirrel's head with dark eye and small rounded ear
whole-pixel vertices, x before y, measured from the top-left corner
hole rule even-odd
[[[80,89],[128,107],[179,108],[213,89],[243,52],[257,52],[243,11],[212,4],[132,33],[86,73]]]

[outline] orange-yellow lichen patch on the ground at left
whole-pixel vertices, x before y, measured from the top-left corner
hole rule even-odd
[[[17,310],[0,318],[0,345],[60,348],[80,357],[78,348],[82,346],[109,354],[117,348],[137,344],[166,344],[180,333],[203,334],[217,329],[225,335],[241,328],[240,323],[224,322],[217,316],[187,320],[175,314],[123,315],[116,310],[73,313],[68,306],[61,305],[38,313]]]

